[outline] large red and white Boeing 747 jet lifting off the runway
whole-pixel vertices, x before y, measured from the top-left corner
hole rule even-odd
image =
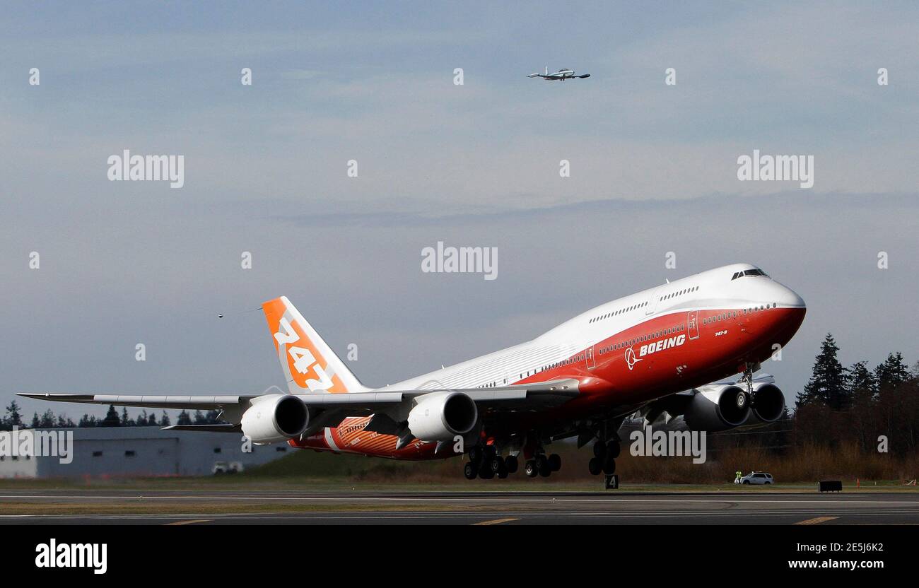
[[[262,310],[288,394],[150,396],[23,393],[51,401],[220,410],[254,443],[396,459],[467,455],[467,478],[505,478],[521,454],[528,476],[561,468],[553,440],[594,444],[594,474],[612,474],[618,428],[682,415],[693,430],[772,422],[785,408],[760,362],[798,331],[805,305],[748,264],[723,266],[607,302],[520,345],[370,389],[281,297]],[[736,383],[719,382],[740,375]]]

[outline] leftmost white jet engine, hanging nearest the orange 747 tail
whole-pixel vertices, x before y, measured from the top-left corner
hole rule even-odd
[[[310,410],[296,396],[267,394],[252,402],[240,424],[255,445],[287,441],[300,436],[310,424]]]

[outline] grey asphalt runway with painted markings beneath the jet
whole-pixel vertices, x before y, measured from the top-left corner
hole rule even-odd
[[[919,492],[0,491],[0,525],[917,525]]]

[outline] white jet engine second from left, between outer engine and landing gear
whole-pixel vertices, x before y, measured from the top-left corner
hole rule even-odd
[[[479,411],[462,392],[431,392],[414,399],[408,413],[408,429],[422,441],[451,441],[475,426]]]

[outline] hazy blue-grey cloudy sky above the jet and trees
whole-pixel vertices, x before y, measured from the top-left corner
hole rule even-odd
[[[845,363],[919,359],[913,3],[4,12],[5,404],[281,385],[254,311],[281,294],[340,353],[357,344],[357,376],[383,385],[741,261],[808,303],[764,365],[789,400],[827,332]],[[591,77],[526,77],[546,66]],[[184,155],[185,186],[108,181],[123,149]],[[754,149],[812,155],[813,187],[739,181]],[[437,241],[498,247],[498,278],[422,273]]]

